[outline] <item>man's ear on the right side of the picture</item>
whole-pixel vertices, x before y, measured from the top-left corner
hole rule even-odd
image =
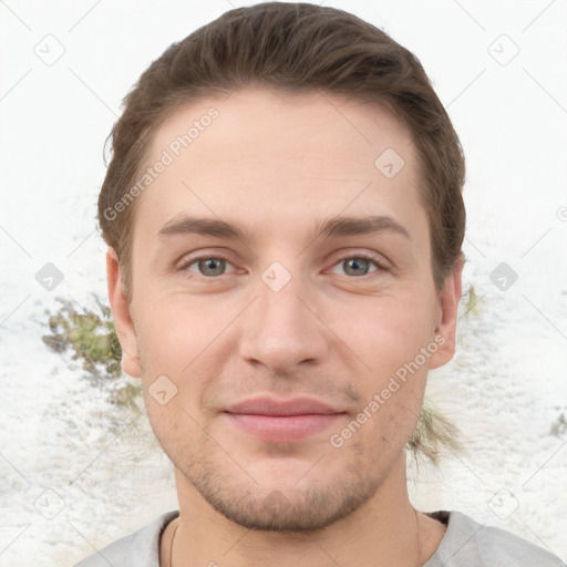
[[[446,364],[455,353],[456,321],[462,293],[462,276],[465,258],[461,255],[452,274],[445,278],[440,292],[440,317],[435,328],[435,342],[440,346],[430,359],[430,369]]]

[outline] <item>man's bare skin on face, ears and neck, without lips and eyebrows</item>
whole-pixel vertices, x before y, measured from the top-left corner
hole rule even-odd
[[[248,87],[176,111],[148,163],[210,106],[219,117],[137,197],[131,301],[107,254],[123,368],[142,379],[175,465],[181,515],[163,536],[162,565],[175,528],[175,567],[423,565],[445,528],[409,501],[405,444],[429,369],[454,352],[462,264],[437,291],[411,135],[375,104]],[[386,148],[405,162],[392,178],[374,166]],[[158,236],[183,215],[238,224],[251,238]],[[368,215],[393,218],[408,236],[318,236],[318,223]],[[353,269],[361,254],[379,264]],[[215,276],[205,265],[207,277],[197,256],[227,264],[213,262]],[[261,278],[274,261],[290,276],[279,291]],[[332,446],[330,435],[435,337],[443,346]],[[148,390],[159,375],[177,388],[165,405]],[[307,439],[265,441],[223,413],[258,393],[344,413]],[[265,505],[275,498],[278,512]]]

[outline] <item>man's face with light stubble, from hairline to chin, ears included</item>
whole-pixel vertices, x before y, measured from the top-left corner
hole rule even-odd
[[[109,276],[177,482],[246,527],[346,517],[402,471],[453,352],[460,274],[435,290],[411,136],[377,105],[250,89],[177,111],[148,165],[164,151],[130,306],[112,254]]]

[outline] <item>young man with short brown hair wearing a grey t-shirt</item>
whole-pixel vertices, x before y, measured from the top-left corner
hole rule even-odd
[[[463,179],[420,63],[346,12],[233,10],[150,66],[99,210],[179,511],[81,567],[561,565],[408,497],[454,352]]]

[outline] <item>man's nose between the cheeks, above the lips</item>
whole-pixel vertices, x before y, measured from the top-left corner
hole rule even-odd
[[[258,299],[243,321],[240,355],[274,373],[293,371],[301,363],[317,364],[328,354],[327,328],[311,293],[299,277],[279,290],[259,281]]]

